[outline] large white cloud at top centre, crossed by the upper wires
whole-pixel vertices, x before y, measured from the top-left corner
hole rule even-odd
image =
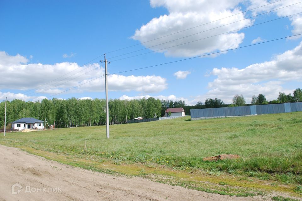
[[[242,20],[245,19],[244,14],[238,14],[242,12],[241,8],[238,6],[238,3],[240,2],[241,2],[240,0],[224,1],[223,3],[221,3],[218,0],[214,0],[214,1],[151,0],[150,4],[152,7],[163,6],[168,9],[169,14],[161,15],[158,18],[153,18],[147,24],[144,24],[142,27],[140,27],[140,29],[137,29],[135,31],[135,34],[132,36],[132,38],[140,42],[149,41],[144,43],[143,45],[146,47],[150,47],[150,49],[153,51],[175,46],[159,51],[159,52],[164,52],[166,56],[173,56],[173,57],[192,57],[192,56],[202,55],[209,52],[224,51],[231,48],[236,48],[244,39],[244,33],[239,33],[238,31],[234,31],[232,33],[228,33],[224,35],[218,35],[215,37],[208,38],[206,40],[187,43],[185,45],[180,45],[180,46],[176,46],[176,45],[186,43],[189,41],[199,40],[201,38],[221,34],[236,29],[241,29],[245,26],[251,25],[253,23],[252,20],[250,19]],[[225,18],[231,15],[234,16]],[[222,19],[222,18],[225,19],[215,21],[217,19]],[[238,20],[242,20],[242,21],[236,22],[234,24],[222,26]],[[209,23],[212,21],[215,22]],[[201,24],[204,25],[199,26]],[[198,27],[194,29],[190,29],[195,26]],[[213,29],[219,26],[222,27]],[[167,35],[168,33],[169,34],[176,33],[181,30],[186,30],[186,31],[160,38],[162,36]],[[203,32],[203,33],[199,33],[199,32]],[[188,35],[192,35],[192,36],[185,37]],[[154,38],[159,38],[159,39],[150,41]],[[176,40],[178,38],[182,38],[182,39]],[[166,43],[167,41],[171,41],[171,42]],[[156,46],[160,43],[164,43],[164,44]]]

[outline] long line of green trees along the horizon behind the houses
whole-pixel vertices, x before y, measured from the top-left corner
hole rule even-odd
[[[246,104],[243,95],[235,95],[232,104],[224,104],[221,99],[207,98],[204,103],[197,102],[196,105],[187,106],[184,100],[159,100],[153,97],[139,100],[109,100],[109,122],[110,124],[126,123],[136,117],[154,118],[165,115],[167,108],[182,107],[186,115],[190,115],[191,109],[204,109],[216,107],[232,107],[258,104],[273,104],[283,102],[302,101],[302,90],[296,89],[292,94],[279,93],[276,100],[267,101],[263,94],[253,95],[251,104]],[[4,105],[0,103],[0,128],[4,125]],[[24,100],[14,99],[7,101],[7,118],[9,124],[23,117],[33,117],[36,119],[46,119],[56,127],[78,127],[78,126],[97,126],[106,124],[106,101],[105,99],[86,99],[80,100],[70,98],[67,100],[53,98],[43,99],[41,102],[25,102]]]

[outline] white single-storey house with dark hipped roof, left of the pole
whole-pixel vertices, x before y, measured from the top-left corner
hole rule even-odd
[[[39,119],[35,119],[35,118],[21,118],[18,119],[14,122],[11,123],[12,124],[12,129],[18,129],[19,130],[24,130],[24,129],[31,129],[31,128],[37,128],[37,129],[43,129],[44,128],[44,122],[39,120]]]

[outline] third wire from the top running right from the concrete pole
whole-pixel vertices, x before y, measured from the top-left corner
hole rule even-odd
[[[162,48],[162,49],[159,49],[159,50],[153,50],[151,52],[145,52],[145,53],[133,55],[133,56],[130,56],[130,57],[116,59],[116,60],[113,60],[113,61],[110,61],[110,62],[120,61],[120,60],[128,59],[128,58],[131,58],[131,57],[137,57],[137,56],[141,56],[141,55],[144,55],[144,54],[149,54],[149,53],[152,53],[152,52],[158,52],[158,51],[161,51],[161,50],[169,49],[171,47],[176,47],[176,46],[181,46],[181,45],[185,45],[185,44],[196,42],[196,41],[201,41],[201,40],[208,39],[208,38],[211,38],[211,37],[215,37],[215,36],[218,36],[218,35],[223,35],[223,34],[231,33],[231,32],[234,32],[234,31],[246,29],[246,28],[249,28],[249,27],[257,26],[257,25],[260,25],[260,24],[265,24],[265,23],[268,23],[268,22],[272,22],[272,21],[275,21],[275,20],[278,20],[278,19],[283,19],[283,18],[291,17],[291,16],[294,16],[294,15],[297,15],[297,14],[301,14],[301,13],[302,12],[296,13],[296,14],[292,14],[292,15],[288,15],[288,16],[284,16],[284,17],[280,17],[280,18],[276,18],[276,19],[272,19],[272,20],[269,20],[269,21],[261,22],[261,23],[258,23],[258,24],[253,24],[253,25],[250,25],[250,26],[242,27],[242,28],[239,28],[239,29],[236,29],[236,30],[232,30],[232,31],[228,31],[228,32],[224,32],[224,33],[221,33],[221,34],[211,35],[211,36],[208,36],[208,37],[205,37],[205,38],[201,38],[201,39],[197,39],[197,40],[194,40],[194,41],[189,41],[189,42],[181,43],[181,44],[178,44],[178,45],[165,47],[165,48]]]

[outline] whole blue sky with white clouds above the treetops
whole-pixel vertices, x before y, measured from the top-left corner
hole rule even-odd
[[[273,2],[1,1],[0,72],[3,79],[0,80],[0,100],[5,97],[26,101],[45,97],[105,98],[104,79],[98,78],[104,73],[103,63],[99,62],[104,53],[221,18],[224,19],[107,53],[106,57],[112,61],[108,64],[108,72],[173,62],[301,34],[302,15],[296,13],[302,12],[302,3],[293,0]],[[268,3],[271,4],[263,6]],[[294,3],[297,4],[288,6]],[[263,7],[238,14],[259,6]],[[249,18],[274,9],[278,10]],[[292,14],[296,15],[242,29]],[[231,15],[234,16],[229,17]],[[233,23],[235,21],[238,22]],[[225,25],[229,23],[232,24]],[[213,29],[218,26],[222,27]],[[175,46],[236,29],[240,30]],[[203,33],[196,34],[198,32]],[[186,37],[192,34],[196,35]],[[172,41],[178,38],[182,39]],[[214,56],[109,75],[109,98],[154,96],[185,100],[188,105],[215,97],[230,103],[236,94],[243,94],[247,103],[252,95],[260,93],[267,100],[276,99],[278,92],[288,94],[302,87],[300,42],[300,37],[282,39]],[[160,43],[165,44],[156,46]],[[170,46],[175,47],[114,61]],[[143,48],[146,49],[126,54]],[[126,55],[115,57],[122,54]],[[98,56],[101,57],[86,64]],[[60,93],[79,84],[83,85]]]

